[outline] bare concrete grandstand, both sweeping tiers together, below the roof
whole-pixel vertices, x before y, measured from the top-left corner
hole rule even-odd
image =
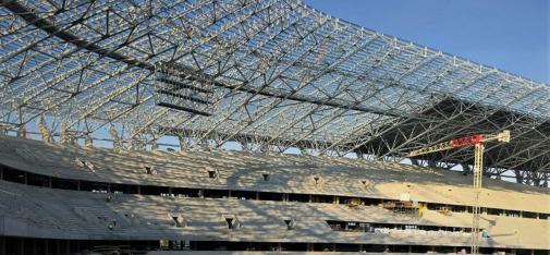
[[[342,252],[374,245],[456,252],[470,240],[469,179],[460,172],[339,158],[114,153],[0,139],[0,235],[87,248],[126,241],[134,248],[192,251],[320,245]],[[484,198],[480,228],[489,238],[481,247],[550,251],[548,191],[486,182],[484,196],[490,198]]]

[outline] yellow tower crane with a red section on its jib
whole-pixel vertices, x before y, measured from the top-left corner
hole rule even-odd
[[[451,139],[448,142],[439,143],[432,146],[427,146],[424,148],[419,148],[413,150],[406,155],[408,158],[417,157],[420,155],[432,154],[437,151],[465,147],[465,146],[475,146],[475,156],[474,156],[474,205],[473,205],[473,217],[472,217],[472,243],[470,243],[470,253],[478,254],[479,252],[479,217],[481,212],[481,208],[479,206],[479,195],[481,193],[481,177],[484,169],[484,150],[485,143],[488,142],[500,142],[500,143],[509,143],[510,142],[510,131],[504,130],[498,134],[476,134],[464,136],[456,139]]]

